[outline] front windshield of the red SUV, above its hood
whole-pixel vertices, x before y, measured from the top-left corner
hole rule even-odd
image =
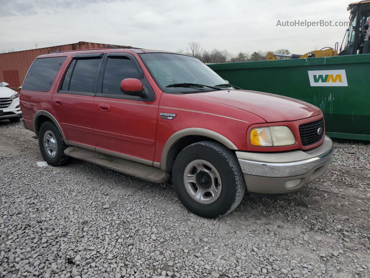
[[[172,53],[141,53],[140,57],[152,77],[156,80],[157,85],[164,92],[209,91],[214,89],[206,86],[216,86],[226,83],[225,80],[208,66],[191,56]],[[184,83],[188,85],[184,85]],[[204,86],[192,86],[189,84],[201,84]],[[229,86],[230,88],[233,89],[232,86]],[[224,86],[223,89],[228,89],[228,87]]]

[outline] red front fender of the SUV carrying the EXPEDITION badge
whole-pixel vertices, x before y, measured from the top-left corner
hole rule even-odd
[[[155,162],[160,162],[165,143],[179,130],[186,128],[212,130],[228,138],[239,150],[247,150],[248,127],[252,123],[265,123],[259,116],[245,110],[189,97],[191,95],[162,94],[158,115],[173,113],[176,117],[172,120],[158,117]]]

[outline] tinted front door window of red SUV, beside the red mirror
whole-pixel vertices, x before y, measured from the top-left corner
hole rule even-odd
[[[102,93],[123,94],[121,81],[125,78],[141,79],[134,61],[129,57],[108,57],[105,66]]]

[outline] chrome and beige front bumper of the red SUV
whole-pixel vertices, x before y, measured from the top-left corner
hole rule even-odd
[[[316,148],[280,153],[236,152],[249,192],[280,194],[299,190],[322,176],[333,153],[325,136]]]

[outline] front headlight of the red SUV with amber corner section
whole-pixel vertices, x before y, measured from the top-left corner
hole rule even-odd
[[[296,139],[287,126],[269,126],[253,128],[250,131],[250,143],[256,147],[279,147],[294,145]]]

